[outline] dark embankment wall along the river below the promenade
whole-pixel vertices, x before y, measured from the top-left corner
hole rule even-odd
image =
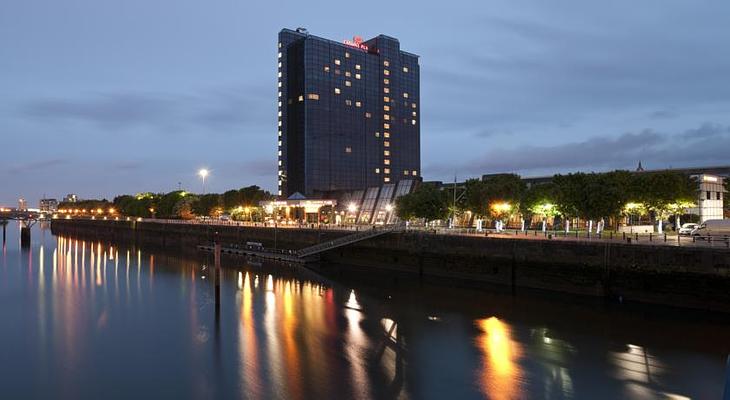
[[[55,220],[66,236],[194,250],[258,242],[301,249],[349,234],[316,229],[274,229],[136,221]],[[393,271],[449,284],[500,285],[730,312],[730,250],[625,243],[520,240],[423,232],[390,233],[322,254],[314,266]]]

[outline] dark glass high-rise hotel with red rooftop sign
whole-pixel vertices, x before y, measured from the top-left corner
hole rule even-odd
[[[419,179],[418,56],[398,39],[283,29],[278,86],[279,196]]]

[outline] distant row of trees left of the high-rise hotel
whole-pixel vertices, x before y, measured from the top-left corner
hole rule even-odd
[[[113,210],[130,217],[158,217],[191,219],[197,216],[217,217],[230,213],[239,219],[260,218],[259,202],[271,200],[274,196],[253,185],[225,193],[193,194],[182,190],[169,193],[139,193],[121,195],[108,200],[83,200],[75,203],[61,203],[60,210]]]

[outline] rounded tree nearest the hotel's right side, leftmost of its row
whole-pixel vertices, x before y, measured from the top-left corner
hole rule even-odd
[[[420,185],[396,200],[396,213],[402,220],[422,218],[430,222],[446,218],[448,212],[446,193],[433,185]]]

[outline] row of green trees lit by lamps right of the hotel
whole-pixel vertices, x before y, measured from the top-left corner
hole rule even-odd
[[[501,174],[466,181],[463,189],[439,190],[424,184],[397,200],[401,219],[446,219],[470,212],[493,221],[521,215],[583,220],[614,220],[644,213],[664,219],[696,203],[698,185],[675,171],[575,173],[555,175],[550,182],[528,187],[520,176]]]

